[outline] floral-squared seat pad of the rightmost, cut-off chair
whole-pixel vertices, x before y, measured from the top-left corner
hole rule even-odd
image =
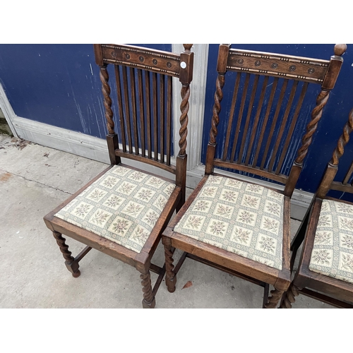
[[[353,283],[353,205],[323,200],[309,269]]]

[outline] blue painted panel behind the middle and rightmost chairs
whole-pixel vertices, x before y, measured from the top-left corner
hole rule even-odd
[[[202,146],[202,162],[205,162],[205,150],[208,144],[210,121],[212,118],[212,108],[215,94],[215,81],[217,71],[215,70],[217,63],[218,44],[210,44],[208,56],[208,79],[205,95],[205,124],[203,129],[203,146]],[[333,55],[334,44],[232,44],[232,48],[257,50],[261,52],[275,52],[281,54],[298,55],[313,57],[318,59],[330,59]],[[323,117],[319,123],[318,131],[313,138],[313,143],[306,155],[304,161],[304,169],[301,172],[297,189],[314,192],[321,180],[321,176],[325,166],[330,160],[332,152],[335,148],[335,142],[342,133],[342,128],[348,119],[350,109],[353,108],[353,44],[347,45],[347,52],[343,55],[344,63],[337,80],[335,88],[330,93],[328,104],[326,105]],[[228,74],[227,74],[228,75]],[[229,78],[229,76],[228,76]],[[223,101],[229,98],[230,88],[227,85],[227,76],[225,80]],[[314,97],[320,92],[319,85],[313,85]],[[308,92],[309,93],[309,92]],[[230,99],[228,100],[230,104]],[[222,150],[222,136],[225,136],[225,124],[222,124],[222,116],[229,113],[229,104],[222,105],[220,113],[220,129],[217,136],[218,152]],[[315,98],[310,103],[304,103],[301,112],[306,118],[310,118],[311,110],[315,107]],[[309,121],[309,120],[308,120]],[[304,127],[304,126],[303,126]],[[299,131],[302,133],[304,130]],[[298,141],[299,142],[299,141]],[[353,152],[353,136],[352,143],[347,145],[346,153],[342,157],[340,170],[337,177],[345,174],[346,167],[350,164],[349,158]],[[348,157],[348,160],[347,160]]]

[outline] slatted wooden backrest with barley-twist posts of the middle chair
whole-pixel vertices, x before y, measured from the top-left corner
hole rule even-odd
[[[321,60],[231,49],[230,44],[221,44],[205,174],[213,173],[214,167],[248,172],[285,184],[285,195],[292,196],[346,49],[346,44],[336,44],[335,55],[330,60]],[[227,133],[225,144],[221,146],[222,157],[215,158],[227,71],[236,72],[234,88],[229,115],[225,118]],[[296,157],[288,151],[293,143],[293,133],[303,120],[301,105],[311,83],[321,85],[321,92]],[[290,167],[286,168],[286,165]]]

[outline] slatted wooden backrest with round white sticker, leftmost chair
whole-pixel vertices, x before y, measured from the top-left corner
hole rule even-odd
[[[189,84],[193,78],[192,44],[183,45],[183,53],[173,54],[132,45],[93,44],[95,61],[100,66],[111,163],[118,164],[120,157],[126,157],[152,164],[177,174],[177,184],[185,179],[182,174],[186,172]],[[109,64],[114,66],[116,78],[118,133],[114,131]],[[177,167],[171,164],[173,77],[182,84]]]

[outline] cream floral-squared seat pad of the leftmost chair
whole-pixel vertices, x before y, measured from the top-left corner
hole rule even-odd
[[[174,188],[160,178],[114,166],[55,216],[140,253]]]

